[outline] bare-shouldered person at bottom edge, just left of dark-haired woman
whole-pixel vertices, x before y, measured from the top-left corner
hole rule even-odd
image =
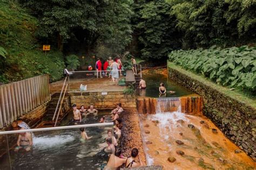
[[[118,169],[120,166],[125,164],[126,157],[120,158],[122,154],[122,150],[117,148],[114,154],[110,155],[109,161],[107,161],[107,165],[104,167],[104,170],[115,170]]]

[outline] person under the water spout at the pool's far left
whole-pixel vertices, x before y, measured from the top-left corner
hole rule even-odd
[[[19,128],[19,130],[25,130],[25,128]],[[23,149],[25,151],[30,151],[32,147],[32,134],[30,132],[19,133],[19,137],[17,140],[17,147],[15,148],[15,152]]]

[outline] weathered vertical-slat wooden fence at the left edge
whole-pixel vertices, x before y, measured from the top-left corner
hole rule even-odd
[[[48,101],[48,74],[0,86],[0,128]]]

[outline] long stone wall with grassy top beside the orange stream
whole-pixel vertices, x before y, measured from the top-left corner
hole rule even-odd
[[[256,109],[253,102],[243,102],[223,93],[223,87],[169,63],[171,80],[204,98],[205,116],[223,131],[237,146],[256,161]],[[211,85],[213,84],[213,85]],[[226,89],[228,90],[228,89]]]

